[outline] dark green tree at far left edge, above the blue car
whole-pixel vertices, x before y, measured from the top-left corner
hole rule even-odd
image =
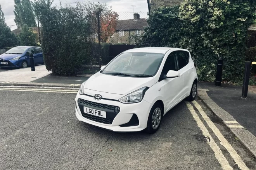
[[[19,45],[19,38],[11,33],[10,28],[5,23],[4,14],[0,5],[0,49],[8,46]]]

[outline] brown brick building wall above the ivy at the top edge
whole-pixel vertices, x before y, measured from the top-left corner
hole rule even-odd
[[[157,7],[161,6],[174,6],[174,5],[180,5],[183,0],[149,0],[149,9],[154,10]]]

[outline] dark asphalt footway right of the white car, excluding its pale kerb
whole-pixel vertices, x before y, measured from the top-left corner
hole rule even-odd
[[[214,83],[199,83],[201,88],[208,89],[208,96],[218,106],[226,110],[244,128],[256,136],[256,93],[248,92],[247,99],[241,99],[242,87]],[[254,110],[254,111],[253,111]]]

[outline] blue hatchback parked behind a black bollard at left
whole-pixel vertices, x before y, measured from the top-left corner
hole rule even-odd
[[[19,46],[0,55],[0,68],[27,68],[30,66],[29,53],[33,53],[35,65],[43,64],[40,47]]]

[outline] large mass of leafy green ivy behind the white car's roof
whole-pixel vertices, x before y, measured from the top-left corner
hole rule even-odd
[[[255,0],[185,0],[150,15],[140,44],[188,49],[200,81],[215,80],[223,58],[223,80],[242,82],[247,29],[255,20]]]

